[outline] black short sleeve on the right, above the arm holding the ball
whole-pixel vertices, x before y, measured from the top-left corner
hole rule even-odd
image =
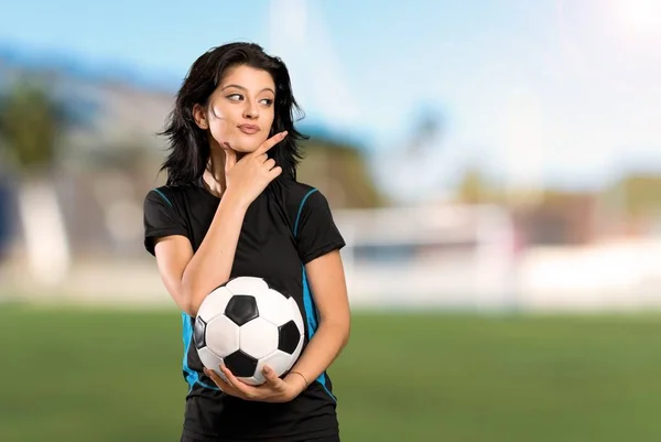
[[[301,202],[294,223],[294,236],[304,265],[346,245],[335,224],[328,201],[316,190],[311,191]]]

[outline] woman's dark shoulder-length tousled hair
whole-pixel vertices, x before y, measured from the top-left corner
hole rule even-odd
[[[160,134],[170,140],[167,159],[161,171],[167,173],[167,185],[188,184],[199,180],[209,160],[210,148],[205,130],[193,118],[193,106],[205,106],[216,90],[226,71],[237,65],[267,71],[275,83],[274,118],[269,137],[288,131],[288,136],[269,151],[269,157],[282,168],[278,177],[296,179],[296,166],[302,158],[297,141],[307,139],[294,128],[294,111],[302,115],[292,93],[290,75],[284,63],[264,53],[254,43],[229,43],[213,47],[199,56],[176,95],[167,126]]]

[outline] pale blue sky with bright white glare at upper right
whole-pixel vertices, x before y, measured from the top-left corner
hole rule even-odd
[[[375,163],[384,182],[410,190],[437,187],[468,162],[522,185],[661,170],[655,0],[182,4],[11,1],[0,42],[154,78],[181,78],[210,46],[259,42],[290,66],[311,120],[362,136],[384,154]],[[445,116],[445,131],[415,162],[404,145],[424,106]]]

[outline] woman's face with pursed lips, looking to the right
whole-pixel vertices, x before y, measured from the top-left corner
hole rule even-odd
[[[227,69],[206,109],[195,105],[197,126],[214,144],[253,152],[269,137],[274,117],[275,84],[267,71],[239,65]]]

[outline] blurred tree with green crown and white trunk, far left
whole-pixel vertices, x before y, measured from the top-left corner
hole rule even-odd
[[[68,241],[53,181],[66,112],[44,83],[24,76],[0,97],[0,147],[19,172],[19,215],[35,281],[55,283],[69,265]]]

